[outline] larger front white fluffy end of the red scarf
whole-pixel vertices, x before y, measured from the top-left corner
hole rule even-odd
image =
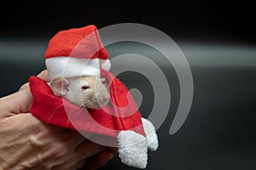
[[[118,135],[119,158],[131,167],[145,168],[148,163],[146,138],[134,131],[121,131]]]

